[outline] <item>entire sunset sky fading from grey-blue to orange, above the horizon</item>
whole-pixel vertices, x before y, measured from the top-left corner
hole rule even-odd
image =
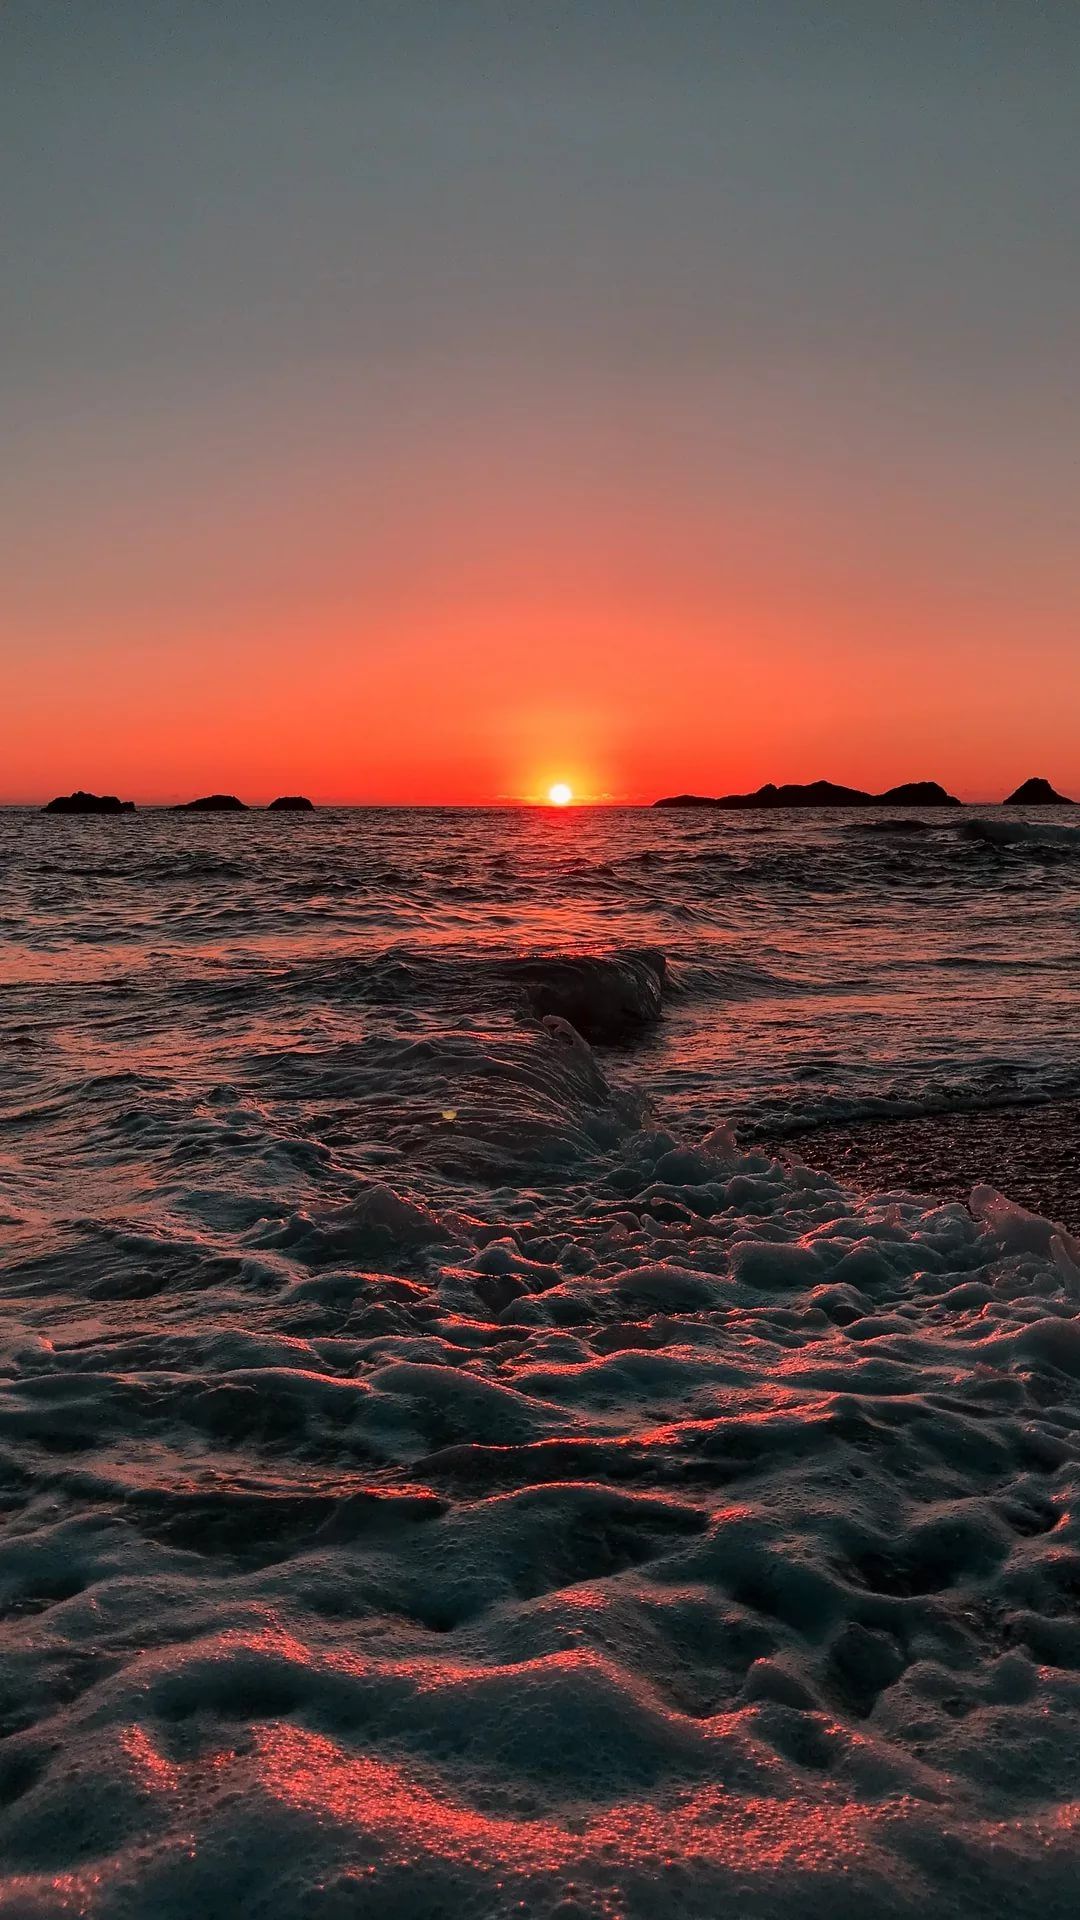
[[[6,0],[0,801],[1080,797],[1074,0]]]

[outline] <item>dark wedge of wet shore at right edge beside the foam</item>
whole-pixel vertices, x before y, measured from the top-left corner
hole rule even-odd
[[[859,1190],[967,1200],[976,1185],[997,1187],[1080,1233],[1080,1100],[819,1127],[765,1144]]]

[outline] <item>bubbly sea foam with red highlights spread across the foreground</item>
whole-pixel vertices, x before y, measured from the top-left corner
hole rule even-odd
[[[8,1273],[0,1910],[1067,1910],[1074,1242],[611,1173]]]

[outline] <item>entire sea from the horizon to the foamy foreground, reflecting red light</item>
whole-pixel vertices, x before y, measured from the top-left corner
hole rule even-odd
[[[801,1129],[1080,1092],[1078,927],[1065,808],[0,814],[0,1912],[1072,1912],[1080,1246]]]

